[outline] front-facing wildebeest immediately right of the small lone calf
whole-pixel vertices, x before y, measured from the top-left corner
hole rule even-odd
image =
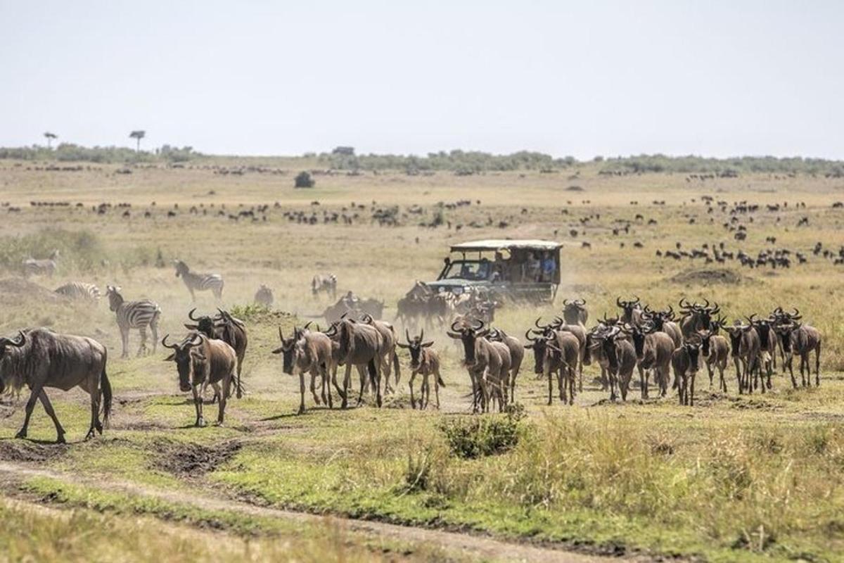
[[[505,386],[510,371],[510,349],[506,344],[490,342],[486,337],[490,329],[483,321],[472,326],[459,326],[452,322],[447,332],[450,338],[463,344],[463,366],[472,382],[472,409],[480,407],[484,412],[490,410],[490,401],[498,399],[499,409],[506,404]],[[480,401],[479,401],[480,398]]]

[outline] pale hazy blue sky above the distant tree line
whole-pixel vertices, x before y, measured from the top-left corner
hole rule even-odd
[[[0,0],[0,146],[844,159],[844,2]]]

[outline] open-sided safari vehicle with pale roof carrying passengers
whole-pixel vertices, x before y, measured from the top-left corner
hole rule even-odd
[[[490,239],[452,245],[439,277],[428,287],[460,295],[484,288],[511,300],[553,301],[560,285],[555,241]]]

